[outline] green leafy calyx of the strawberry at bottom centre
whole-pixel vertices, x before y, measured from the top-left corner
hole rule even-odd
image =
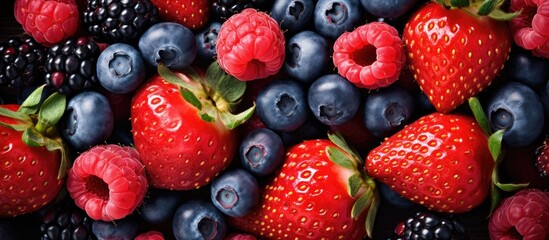
[[[364,211],[366,215],[366,234],[372,236],[375,216],[379,207],[379,194],[375,181],[363,171],[364,162],[356,150],[350,147],[343,135],[338,132],[328,133],[328,138],[337,147],[328,147],[327,153],[335,164],[354,172],[347,180],[347,192],[352,198],[357,198],[351,210],[351,217],[358,219]]]

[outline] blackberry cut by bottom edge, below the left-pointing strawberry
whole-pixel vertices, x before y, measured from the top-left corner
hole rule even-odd
[[[467,240],[463,224],[453,217],[418,212],[399,223],[388,240]]]

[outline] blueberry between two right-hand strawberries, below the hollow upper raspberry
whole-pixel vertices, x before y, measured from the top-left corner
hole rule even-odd
[[[364,104],[364,123],[379,138],[388,137],[410,122],[415,103],[412,95],[398,85],[371,93]]]

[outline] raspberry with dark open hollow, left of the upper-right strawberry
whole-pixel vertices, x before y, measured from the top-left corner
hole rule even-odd
[[[406,63],[398,31],[382,22],[341,34],[334,43],[338,73],[358,87],[376,89],[395,82]]]

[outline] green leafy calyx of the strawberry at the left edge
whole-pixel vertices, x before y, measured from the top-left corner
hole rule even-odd
[[[45,86],[34,90],[17,111],[0,107],[0,116],[17,120],[16,123],[0,121],[0,126],[23,132],[21,141],[30,147],[59,151],[61,162],[57,178],[61,179],[69,168],[69,153],[56,126],[65,112],[67,100],[64,95],[55,92],[41,101]]]

